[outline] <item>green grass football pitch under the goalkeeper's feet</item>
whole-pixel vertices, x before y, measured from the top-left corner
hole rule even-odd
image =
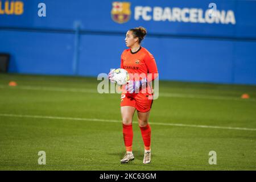
[[[142,163],[135,113],[135,160],[120,164],[120,94],[97,93],[99,82],[1,74],[0,170],[256,169],[256,86],[160,81],[150,115],[152,161]],[[38,164],[39,151],[46,165]]]

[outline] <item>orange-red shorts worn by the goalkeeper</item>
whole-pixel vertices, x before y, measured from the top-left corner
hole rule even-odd
[[[121,107],[122,106],[133,106],[135,107],[139,112],[146,113],[147,111],[150,111],[153,100],[151,95],[145,95],[142,93],[135,93],[135,94],[122,94],[121,95]]]

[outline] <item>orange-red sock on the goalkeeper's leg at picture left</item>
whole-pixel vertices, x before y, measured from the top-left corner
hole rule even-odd
[[[133,125],[123,124],[123,140],[125,142],[126,151],[133,151]]]

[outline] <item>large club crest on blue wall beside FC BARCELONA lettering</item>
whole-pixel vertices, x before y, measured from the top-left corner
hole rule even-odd
[[[118,2],[112,3],[111,17],[114,22],[126,23],[131,17],[130,2]]]

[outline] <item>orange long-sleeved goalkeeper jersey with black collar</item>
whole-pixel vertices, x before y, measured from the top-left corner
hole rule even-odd
[[[147,87],[142,88],[139,93],[152,94],[150,82],[158,76],[158,68],[156,67],[154,56],[147,51],[146,48],[140,47],[138,51],[131,52],[131,49],[125,49],[121,55],[121,66],[129,75],[130,80],[141,80],[147,78]],[[123,93],[125,86],[123,86]],[[150,91],[151,92],[148,92]]]

